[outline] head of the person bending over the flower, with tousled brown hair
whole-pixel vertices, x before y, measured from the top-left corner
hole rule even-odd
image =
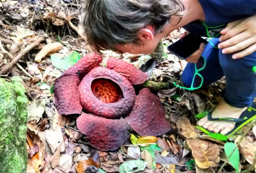
[[[149,54],[172,17],[180,22],[184,6],[181,0],[86,0],[84,12],[87,42],[95,51]]]

